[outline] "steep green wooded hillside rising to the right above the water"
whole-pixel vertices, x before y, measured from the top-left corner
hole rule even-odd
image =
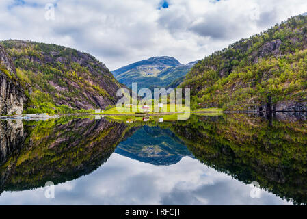
[[[307,110],[307,16],[231,44],[193,66],[179,87],[192,107]]]

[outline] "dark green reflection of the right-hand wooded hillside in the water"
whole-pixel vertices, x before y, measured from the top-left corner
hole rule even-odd
[[[307,121],[192,116],[171,129],[204,164],[307,204]]]

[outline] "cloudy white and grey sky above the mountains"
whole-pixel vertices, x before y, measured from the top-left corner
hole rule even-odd
[[[0,40],[61,44],[110,70],[160,55],[186,64],[304,12],[306,0],[1,0]]]

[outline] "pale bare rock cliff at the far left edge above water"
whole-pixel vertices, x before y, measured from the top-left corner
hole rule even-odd
[[[25,94],[16,78],[14,64],[0,45],[0,115],[21,114]]]

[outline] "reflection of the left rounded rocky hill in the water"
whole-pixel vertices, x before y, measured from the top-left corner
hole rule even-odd
[[[88,175],[109,158],[127,129],[124,124],[88,118],[26,124],[29,134],[10,159],[16,167],[5,190],[37,188],[47,181],[57,184]],[[10,161],[5,165],[12,165]]]

